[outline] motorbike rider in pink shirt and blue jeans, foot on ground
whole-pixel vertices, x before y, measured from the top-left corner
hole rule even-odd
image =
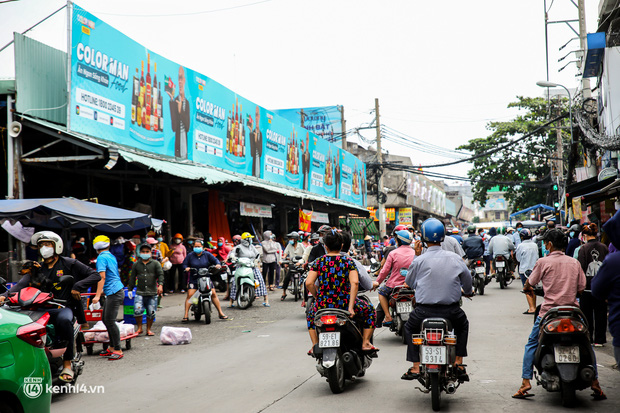
[[[564,254],[566,250],[566,235],[559,229],[549,229],[545,232],[542,240],[549,255],[539,259],[534,266],[530,277],[525,281],[523,291],[533,295],[533,286],[542,282],[545,291],[543,304],[539,314],[536,316],[532,332],[525,344],[523,353],[522,383],[519,390],[512,396],[515,399],[524,399],[533,396],[528,392],[532,389],[530,380],[534,373],[534,358],[538,348],[538,336],[540,334],[540,321],[553,307],[570,305],[578,307],[577,296],[586,288],[586,276],[579,264],[579,261]],[[594,362],[596,369],[596,361]],[[603,400],[607,397],[598,379],[592,382],[591,386],[595,400]]]

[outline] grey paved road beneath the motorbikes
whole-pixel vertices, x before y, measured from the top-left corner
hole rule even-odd
[[[140,338],[123,360],[86,357],[79,382],[104,385],[105,393],[57,396],[52,411],[431,411],[430,396],[416,390],[413,382],[399,379],[408,367],[405,349],[386,329],[377,331],[375,344],[381,352],[366,377],[333,395],[313,359],[305,356],[309,338],[302,309],[292,301],[275,302],[276,294],[272,308],[229,310],[233,321],[191,325],[190,345],[162,346],[157,339]],[[376,295],[371,296],[376,302]],[[167,298],[160,323],[178,321],[180,304],[175,303],[180,301],[179,296]],[[536,397],[530,400],[510,397],[520,383],[523,346],[531,330],[532,319],[521,314],[525,308],[516,285],[500,290],[491,284],[484,296],[465,302],[471,382],[454,395],[443,395],[442,411],[564,411],[559,394],[541,387],[534,388]],[[611,369],[613,358],[606,353],[597,352],[609,399],[594,402],[588,391],[581,391],[573,411],[620,411],[620,373]]]

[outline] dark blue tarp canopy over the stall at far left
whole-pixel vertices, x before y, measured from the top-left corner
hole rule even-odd
[[[150,215],[75,198],[0,200],[0,220],[48,229],[93,228],[101,232],[129,232],[161,227]]]

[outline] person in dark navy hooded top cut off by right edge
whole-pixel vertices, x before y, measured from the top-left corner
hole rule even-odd
[[[620,210],[603,225],[612,244],[620,245]],[[610,248],[611,250],[611,248]],[[613,337],[616,365],[620,365],[620,253],[610,252],[592,279],[592,295],[609,302],[609,332]]]

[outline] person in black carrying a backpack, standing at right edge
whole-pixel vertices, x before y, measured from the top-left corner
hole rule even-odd
[[[586,290],[579,299],[581,311],[588,321],[588,329],[594,347],[603,347],[607,342],[607,304],[592,296],[592,279],[596,277],[603,260],[608,254],[607,247],[598,241],[598,226],[594,223],[586,224],[581,231],[586,243],[579,249],[577,259],[586,273]]]

